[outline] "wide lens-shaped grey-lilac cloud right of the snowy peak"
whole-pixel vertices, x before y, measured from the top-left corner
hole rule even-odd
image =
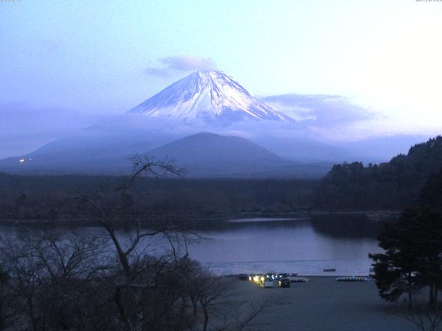
[[[340,95],[282,94],[265,97],[264,100],[311,127],[340,127],[378,117],[378,114]]]

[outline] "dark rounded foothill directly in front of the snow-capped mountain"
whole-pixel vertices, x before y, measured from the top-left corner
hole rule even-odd
[[[174,159],[189,177],[319,177],[328,165],[283,159],[247,139],[209,132],[193,134],[151,150],[158,159]]]

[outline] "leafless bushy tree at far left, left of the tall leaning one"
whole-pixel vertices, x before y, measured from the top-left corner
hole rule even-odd
[[[108,269],[101,238],[31,228],[1,242],[15,316],[32,330],[68,330],[85,316],[90,280]]]

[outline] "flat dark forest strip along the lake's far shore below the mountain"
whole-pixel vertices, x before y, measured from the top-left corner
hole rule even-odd
[[[54,220],[79,215],[75,197],[98,188],[122,185],[126,177],[23,176],[0,173],[0,219]],[[227,218],[238,214],[278,214],[310,206],[318,181],[307,179],[186,179],[143,177],[126,194],[126,203],[140,215],[188,218]]]

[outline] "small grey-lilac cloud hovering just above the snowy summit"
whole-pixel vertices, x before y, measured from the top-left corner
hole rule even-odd
[[[214,70],[216,63],[210,57],[175,56],[158,59],[160,67],[148,67],[145,72],[156,77],[169,77],[177,72],[189,72],[195,70]]]

